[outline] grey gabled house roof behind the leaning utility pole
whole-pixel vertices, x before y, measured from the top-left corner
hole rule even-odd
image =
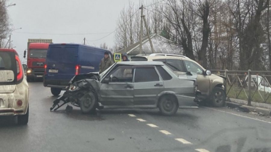
[[[154,52],[151,50],[151,44],[148,37],[142,39],[142,53],[151,54],[151,53],[169,53],[169,54],[181,54],[182,49],[172,41],[158,35],[150,35],[151,41],[154,47]],[[126,47],[127,54],[139,54],[140,50],[140,41],[136,42],[128,47]],[[117,51],[116,53],[124,53],[124,49]]]

